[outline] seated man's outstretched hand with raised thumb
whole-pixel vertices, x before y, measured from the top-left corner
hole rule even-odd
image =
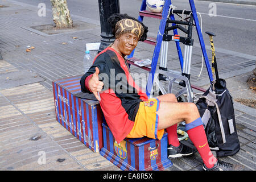
[[[98,101],[100,101],[100,97],[98,95],[98,92],[101,92],[104,82],[100,81],[98,79],[98,74],[100,73],[100,70],[96,67],[95,68],[95,73],[93,73],[93,76],[90,78],[88,85],[89,89],[92,91],[94,96],[97,98]]]

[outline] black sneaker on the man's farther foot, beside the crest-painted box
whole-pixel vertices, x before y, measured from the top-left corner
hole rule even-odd
[[[168,158],[179,158],[181,156],[191,155],[196,152],[195,149],[180,143],[179,146],[174,147],[171,144],[168,145]]]

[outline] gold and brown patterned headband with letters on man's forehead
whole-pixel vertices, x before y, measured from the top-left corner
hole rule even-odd
[[[127,33],[133,33],[141,39],[143,32],[142,24],[133,19],[121,19],[115,24],[115,39]]]

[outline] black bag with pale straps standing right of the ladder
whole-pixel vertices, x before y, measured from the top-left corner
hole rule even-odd
[[[226,81],[214,84],[196,102],[204,123],[205,133],[211,150],[217,156],[234,155],[240,150],[232,96],[226,88]]]

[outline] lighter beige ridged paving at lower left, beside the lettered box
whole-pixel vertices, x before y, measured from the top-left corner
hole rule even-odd
[[[0,170],[119,169],[56,121],[53,95],[43,85],[2,89],[0,96]],[[45,152],[45,164],[38,162],[39,152]]]

